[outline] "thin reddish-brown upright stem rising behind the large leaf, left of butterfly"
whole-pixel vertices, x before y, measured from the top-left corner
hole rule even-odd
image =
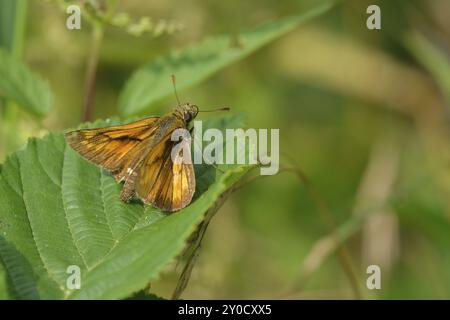
[[[92,29],[91,51],[86,69],[86,81],[84,86],[83,121],[89,121],[92,117],[95,79],[97,75],[98,54],[103,39],[103,26],[94,24]]]

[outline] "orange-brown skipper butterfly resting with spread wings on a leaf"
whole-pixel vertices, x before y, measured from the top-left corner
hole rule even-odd
[[[68,144],[87,160],[124,181],[120,194],[130,201],[135,194],[163,211],[187,206],[195,192],[192,163],[174,161],[176,129],[187,129],[197,116],[195,105],[185,104],[162,116],[124,125],[81,129],[65,134]],[[175,160],[180,160],[177,154]]]

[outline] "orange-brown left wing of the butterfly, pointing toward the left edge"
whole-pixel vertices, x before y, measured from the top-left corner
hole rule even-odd
[[[84,158],[114,173],[116,179],[121,180],[128,162],[144,151],[142,141],[154,134],[158,119],[152,117],[125,125],[71,131],[65,134],[65,138]]]

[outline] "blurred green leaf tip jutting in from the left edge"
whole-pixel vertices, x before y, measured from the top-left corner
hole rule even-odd
[[[0,96],[14,100],[31,113],[45,115],[52,105],[47,82],[25,64],[0,50]]]

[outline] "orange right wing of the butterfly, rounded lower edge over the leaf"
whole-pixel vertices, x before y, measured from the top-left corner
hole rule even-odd
[[[180,148],[172,160],[175,144],[170,135],[156,145],[144,159],[138,174],[136,191],[145,202],[164,211],[176,211],[187,206],[195,192],[195,173],[192,162],[183,161],[183,151],[190,150],[188,144]],[[186,155],[191,159],[190,151]]]

